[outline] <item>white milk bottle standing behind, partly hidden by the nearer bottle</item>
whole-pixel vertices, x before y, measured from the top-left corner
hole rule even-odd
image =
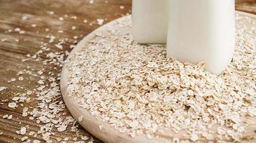
[[[132,0],[132,35],[141,44],[166,44],[169,0]]]

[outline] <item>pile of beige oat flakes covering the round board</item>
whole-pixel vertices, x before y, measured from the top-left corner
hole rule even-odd
[[[165,46],[137,44],[130,27],[130,17],[119,20],[67,61],[68,94],[80,107],[132,137],[168,128],[175,141],[252,138],[244,134],[256,119],[255,21],[237,15],[234,58],[219,76],[204,62],[166,59]]]

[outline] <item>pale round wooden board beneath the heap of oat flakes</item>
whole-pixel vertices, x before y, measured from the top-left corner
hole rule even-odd
[[[244,12],[239,12],[237,11],[237,14],[240,16],[248,16],[252,19],[255,19],[256,22],[256,16],[253,14],[247,14]],[[105,24],[104,26],[101,26],[99,29],[96,29],[93,31],[91,34],[88,34],[86,37],[84,37],[71,51],[70,55],[68,56],[68,59],[70,59],[71,56],[75,55],[77,52],[81,51],[83,49],[83,45],[86,45],[88,41],[91,41],[92,39],[96,39],[96,34],[98,32],[106,31],[109,29],[109,27],[118,29],[120,32],[119,34],[124,34],[127,30],[127,27],[125,26],[118,26],[119,21],[130,21],[131,16],[125,16],[120,19],[116,19],[114,21],[111,21],[108,24]],[[239,24],[245,24],[249,28],[252,27],[253,24],[250,24],[247,20],[241,21],[239,20]],[[68,59],[66,60],[68,62]],[[101,139],[103,142],[106,143],[129,143],[129,142],[134,142],[134,143],[142,143],[142,142],[147,142],[147,143],[156,143],[156,142],[170,142],[173,137],[179,137],[181,139],[188,139],[184,138],[182,136],[183,133],[178,133],[178,134],[173,134],[173,132],[170,131],[165,131],[165,132],[157,132],[156,134],[159,136],[158,138],[152,138],[148,139],[145,135],[140,135],[137,137],[130,137],[128,134],[121,133],[114,129],[114,127],[111,127],[110,124],[107,124],[105,122],[102,122],[101,119],[96,119],[95,117],[91,116],[89,112],[86,111],[86,109],[83,109],[78,106],[76,101],[73,99],[73,97],[68,97],[67,94],[67,87],[68,87],[68,69],[66,67],[66,64],[63,65],[63,69],[61,72],[61,78],[60,78],[60,87],[61,87],[61,92],[63,94],[63,99],[68,107],[70,113],[73,115],[73,117],[83,126],[88,132],[93,134],[95,137]],[[82,121],[79,121],[79,117],[83,116]],[[102,128],[100,128],[100,126]],[[247,128],[246,134],[244,134],[244,137],[249,137],[252,135],[255,135],[255,130],[256,127],[255,125],[250,126]],[[189,139],[188,139],[189,140]],[[201,142],[208,142],[205,138],[199,139]],[[244,140],[242,142],[256,142],[256,139],[253,140]]]

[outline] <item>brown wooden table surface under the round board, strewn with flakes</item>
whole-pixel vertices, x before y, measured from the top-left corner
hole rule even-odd
[[[38,132],[47,123],[38,122],[35,114],[34,119],[22,116],[24,107],[28,107],[29,111],[41,109],[42,101],[37,99],[38,81],[44,78],[42,76],[50,76],[56,78],[58,84],[60,65],[65,59],[65,52],[71,50],[70,46],[99,27],[101,19],[106,23],[130,13],[131,4],[131,0],[0,0],[0,142],[22,142],[22,137],[24,141],[31,142],[47,140]],[[256,1],[239,1],[236,8],[256,14]],[[52,58],[49,53],[60,56]],[[44,84],[45,87],[49,87],[50,83]],[[22,95],[27,97],[27,102],[15,101],[15,97]],[[17,102],[17,107],[10,108],[12,104],[9,103],[12,102]],[[63,105],[60,94],[55,96],[54,101],[44,104],[53,102]],[[58,114],[70,116],[66,108]],[[6,119],[11,118],[10,115],[12,119]],[[17,133],[22,127],[26,127],[27,132]],[[78,126],[74,132],[73,122],[64,131],[59,132],[58,126],[50,129],[52,142],[92,141],[91,135],[82,127]],[[32,132],[36,132],[37,136]],[[101,142],[93,139],[93,142]]]

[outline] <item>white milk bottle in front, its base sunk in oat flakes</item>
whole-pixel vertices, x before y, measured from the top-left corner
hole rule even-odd
[[[170,0],[167,56],[221,74],[234,51],[234,0]]]

